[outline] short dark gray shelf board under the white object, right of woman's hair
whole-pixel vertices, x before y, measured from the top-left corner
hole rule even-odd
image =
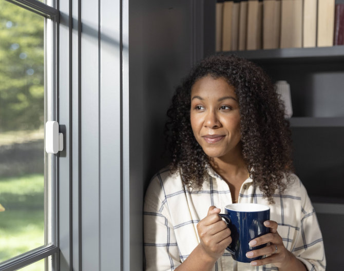
[[[290,127],[344,127],[344,118],[295,117],[289,121]]]

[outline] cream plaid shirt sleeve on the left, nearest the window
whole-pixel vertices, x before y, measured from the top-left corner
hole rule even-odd
[[[181,264],[173,226],[166,208],[144,203],[144,250],[146,271],[174,270]]]

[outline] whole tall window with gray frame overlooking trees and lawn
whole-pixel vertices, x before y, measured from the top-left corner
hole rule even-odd
[[[0,0],[0,270],[50,269],[56,251],[55,158],[44,150],[55,14],[39,1]]]

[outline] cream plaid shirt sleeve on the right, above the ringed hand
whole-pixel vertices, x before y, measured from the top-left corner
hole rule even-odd
[[[292,253],[309,271],[324,271],[326,258],[320,226],[306,189],[301,185],[301,223]]]

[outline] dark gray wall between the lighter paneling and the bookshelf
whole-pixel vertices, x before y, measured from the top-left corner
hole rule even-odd
[[[145,182],[168,163],[163,128],[171,96],[192,67],[190,1],[147,1],[143,17],[143,154]]]

